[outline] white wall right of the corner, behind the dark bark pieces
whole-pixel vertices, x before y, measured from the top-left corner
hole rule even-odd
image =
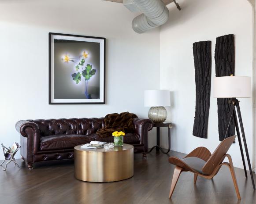
[[[172,105],[168,120],[174,123],[171,149],[189,153],[198,146],[213,151],[219,144],[217,101],[212,96],[208,139],[192,135],[195,114],[193,43],[211,40],[211,81],[215,77],[215,39],[235,35],[235,75],[252,76],[252,6],[247,0],[179,0],[178,11],[169,6],[170,18],[160,29],[160,88],[170,89]],[[252,161],[252,99],[240,99],[245,135]],[[162,133],[167,134],[166,130]],[[166,145],[167,139],[162,141]],[[242,168],[238,142],[229,150],[234,165]]]

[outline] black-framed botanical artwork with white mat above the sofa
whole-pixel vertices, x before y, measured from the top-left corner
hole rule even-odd
[[[49,33],[49,104],[105,104],[106,39]]]

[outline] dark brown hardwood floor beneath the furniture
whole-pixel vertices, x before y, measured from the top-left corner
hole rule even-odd
[[[241,201],[237,200],[229,169],[222,167],[212,180],[182,172],[172,199],[169,199],[174,166],[168,157],[184,154],[171,151],[168,155],[153,151],[148,159],[141,154],[134,158],[134,177],[112,183],[89,183],[74,178],[72,162],[41,165],[28,170],[0,168],[0,204],[256,204],[256,191],[243,169],[235,168]],[[232,156],[232,155],[231,155]],[[249,172],[248,172],[249,175]],[[254,174],[255,176],[255,174]]]

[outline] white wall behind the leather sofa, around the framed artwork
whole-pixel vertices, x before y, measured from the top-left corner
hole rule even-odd
[[[144,90],[160,84],[159,29],[135,33],[135,16],[122,4],[102,0],[0,1],[0,142],[19,142],[14,125],[21,119],[122,111],[146,118]],[[48,105],[48,32],[107,38],[105,105]]]

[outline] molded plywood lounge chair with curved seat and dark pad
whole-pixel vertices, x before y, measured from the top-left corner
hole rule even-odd
[[[238,200],[241,200],[232,159],[229,154],[226,154],[231,144],[234,142],[235,137],[236,136],[231,136],[223,140],[213,152],[213,154],[211,154],[211,152],[205,147],[198,147],[190,152],[183,159],[179,159],[177,157],[170,157],[169,162],[173,165],[176,165],[176,167],[174,169],[174,174],[171,181],[169,198],[171,198],[173,194],[174,188],[181,172],[189,171],[194,173],[194,183],[196,183],[197,175],[200,175],[206,179],[211,179],[219,172],[219,169],[222,165],[226,165],[230,169],[230,173],[237,193],[237,198]],[[225,157],[228,158],[229,162],[223,162]]]

